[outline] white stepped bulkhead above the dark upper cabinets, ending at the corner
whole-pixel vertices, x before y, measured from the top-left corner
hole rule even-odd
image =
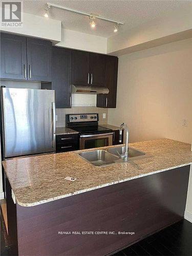
[[[1,14],[1,13],[0,13]],[[61,29],[60,20],[23,13],[23,27],[1,27],[1,31],[44,38],[60,47],[106,54],[107,38]]]

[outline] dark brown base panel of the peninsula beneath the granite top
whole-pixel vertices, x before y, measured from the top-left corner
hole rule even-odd
[[[183,218],[189,169],[167,170],[32,207],[9,200],[8,226],[17,223],[17,231],[13,225],[9,234],[14,252],[113,254]]]

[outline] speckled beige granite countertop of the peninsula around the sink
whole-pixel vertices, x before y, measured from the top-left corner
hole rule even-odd
[[[130,146],[152,157],[96,167],[79,157],[76,151],[13,158],[3,161],[3,166],[17,203],[33,206],[192,164],[190,144],[159,139]],[[76,180],[65,180],[66,177]]]

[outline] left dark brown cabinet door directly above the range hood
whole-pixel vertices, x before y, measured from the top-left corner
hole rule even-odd
[[[90,53],[72,51],[72,83],[78,86],[90,84]]]

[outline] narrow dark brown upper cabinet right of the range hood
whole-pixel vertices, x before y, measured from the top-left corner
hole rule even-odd
[[[116,108],[118,57],[106,56],[106,86],[109,94],[97,94],[98,108]]]

